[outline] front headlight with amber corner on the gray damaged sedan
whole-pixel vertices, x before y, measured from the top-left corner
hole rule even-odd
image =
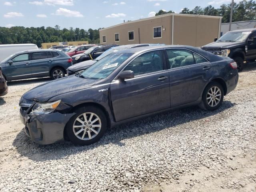
[[[50,103],[36,103],[30,114],[49,114],[58,107],[60,102],[61,100]]]

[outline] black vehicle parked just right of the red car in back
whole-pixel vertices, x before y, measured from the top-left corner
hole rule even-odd
[[[73,64],[80,63],[82,61],[93,60],[104,53],[106,50],[118,46],[116,44],[98,45],[86,50],[84,53],[72,56]]]

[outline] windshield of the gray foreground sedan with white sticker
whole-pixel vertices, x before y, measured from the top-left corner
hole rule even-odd
[[[112,53],[102,58],[88,69],[84,70],[80,76],[86,79],[104,79],[109,76],[120,64],[128,59],[130,53]]]

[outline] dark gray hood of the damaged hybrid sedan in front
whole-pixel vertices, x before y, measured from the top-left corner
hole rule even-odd
[[[67,76],[57,80],[53,80],[37,86],[26,92],[22,97],[26,100],[34,100],[37,102],[46,102],[54,96],[60,94],[90,88],[97,80],[85,79],[75,75]]]

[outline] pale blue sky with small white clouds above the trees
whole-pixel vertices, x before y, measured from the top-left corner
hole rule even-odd
[[[235,0],[237,2],[238,0]],[[182,8],[212,5],[231,0],[0,0],[0,26],[60,26],[98,29],[154,16],[159,10],[179,13]]]

